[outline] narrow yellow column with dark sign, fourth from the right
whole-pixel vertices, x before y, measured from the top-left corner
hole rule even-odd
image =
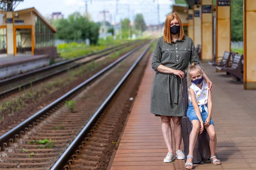
[[[194,45],[201,45],[201,5],[194,5]],[[200,57],[200,56],[199,56]]]

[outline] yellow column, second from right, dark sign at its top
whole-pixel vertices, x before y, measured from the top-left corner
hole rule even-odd
[[[216,0],[216,60],[231,51],[230,0]]]

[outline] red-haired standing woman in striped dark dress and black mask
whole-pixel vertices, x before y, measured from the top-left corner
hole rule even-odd
[[[182,139],[180,119],[183,116],[181,78],[186,87],[186,73],[189,62],[199,64],[199,58],[191,38],[184,35],[180,17],[176,13],[166,17],[163,37],[158,38],[152,56],[152,68],[156,71],[151,91],[150,112],[161,116],[163,138],[168,153],[164,162],[175,159],[172,150],[171,119],[174,124],[175,155],[177,159],[185,159],[180,150]],[[212,91],[212,82],[203,73],[209,89]],[[188,99],[185,99],[188,108]]]

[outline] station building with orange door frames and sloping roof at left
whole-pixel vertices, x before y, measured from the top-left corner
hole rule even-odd
[[[35,8],[0,11],[0,55],[48,54],[56,57],[56,32]]]

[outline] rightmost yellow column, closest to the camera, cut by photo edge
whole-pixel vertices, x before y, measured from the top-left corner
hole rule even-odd
[[[244,0],[244,89],[256,89],[255,21],[255,0]]]

